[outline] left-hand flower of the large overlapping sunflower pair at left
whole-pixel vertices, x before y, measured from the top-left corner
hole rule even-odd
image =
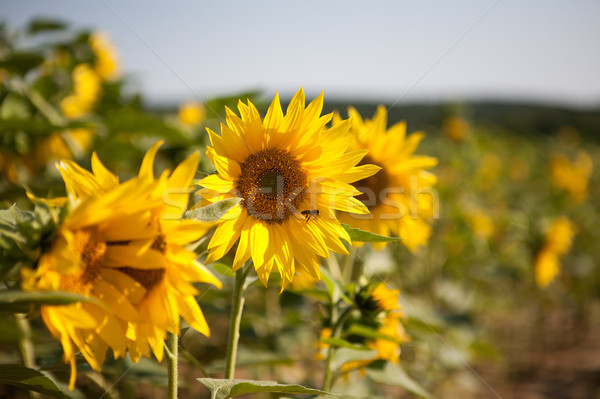
[[[66,179],[65,179],[66,180]],[[78,348],[94,370],[100,370],[108,347],[115,357],[127,348],[127,323],[139,318],[131,298],[144,295],[143,287],[123,279],[113,263],[131,261],[130,242],[155,234],[148,209],[157,206],[145,193],[152,189],[140,179],[89,195],[71,197],[66,216],[35,270],[23,268],[25,291],[68,291],[93,298],[65,306],[42,306],[44,323],[60,340],[63,359],[71,365],[70,388],[75,384]],[[66,199],[60,201],[66,203]],[[136,248],[139,249],[139,248]],[[143,255],[138,255],[144,257]]]

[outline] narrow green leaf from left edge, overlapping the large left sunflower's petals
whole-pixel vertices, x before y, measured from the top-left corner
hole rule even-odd
[[[0,310],[3,312],[25,313],[31,305],[68,305],[80,301],[95,302],[93,298],[71,292],[0,291]]]

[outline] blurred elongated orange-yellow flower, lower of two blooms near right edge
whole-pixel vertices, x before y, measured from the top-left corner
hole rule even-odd
[[[546,233],[546,243],[535,260],[535,281],[546,288],[560,273],[560,258],[566,255],[573,243],[575,226],[566,217],[554,220]]]

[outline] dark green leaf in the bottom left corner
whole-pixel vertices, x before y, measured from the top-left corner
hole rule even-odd
[[[40,392],[53,398],[68,397],[48,375],[19,364],[0,364],[0,383]]]

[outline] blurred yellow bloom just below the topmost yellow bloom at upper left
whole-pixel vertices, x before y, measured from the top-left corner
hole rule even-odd
[[[73,93],[65,97],[61,103],[65,116],[79,118],[89,113],[100,96],[100,77],[88,65],[80,64],[73,69]]]

